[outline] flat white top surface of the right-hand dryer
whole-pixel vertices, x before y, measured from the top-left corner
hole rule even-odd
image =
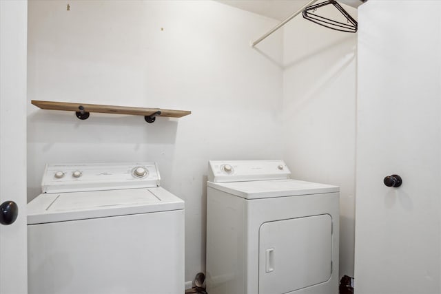
[[[250,182],[207,182],[207,186],[245,199],[300,196],[340,191],[340,188],[337,186],[291,179]]]

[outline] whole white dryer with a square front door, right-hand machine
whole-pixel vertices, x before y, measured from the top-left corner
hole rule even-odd
[[[282,160],[209,161],[207,292],[337,294],[339,188]]]

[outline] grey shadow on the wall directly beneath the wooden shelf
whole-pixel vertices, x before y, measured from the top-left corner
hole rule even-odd
[[[28,142],[174,144],[177,127],[174,118],[147,123],[143,116],[91,113],[79,120],[74,112],[39,109],[28,116]]]

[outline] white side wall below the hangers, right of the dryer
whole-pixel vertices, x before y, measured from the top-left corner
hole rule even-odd
[[[356,18],[357,10],[345,9]],[[353,276],[356,34],[285,25],[283,137],[292,178],[340,186],[340,275]]]

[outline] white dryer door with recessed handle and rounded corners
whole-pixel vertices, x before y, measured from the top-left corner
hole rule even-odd
[[[279,294],[331,277],[329,214],[265,222],[259,230],[259,294]]]

